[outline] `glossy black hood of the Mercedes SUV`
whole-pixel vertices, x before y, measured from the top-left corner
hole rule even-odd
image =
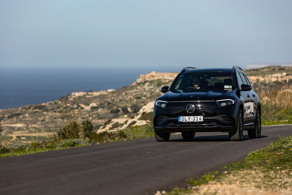
[[[216,92],[216,91],[208,91],[208,92],[166,92],[162,96],[160,96],[159,100],[164,101],[196,101],[196,100],[220,100],[220,99],[230,99],[230,97],[236,95],[236,90],[231,90],[229,92]],[[191,97],[192,96],[192,97]]]

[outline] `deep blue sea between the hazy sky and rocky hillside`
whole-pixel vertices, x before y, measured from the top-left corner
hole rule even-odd
[[[183,68],[183,67],[182,67]],[[72,92],[120,89],[152,71],[179,72],[181,67],[1,68],[0,109],[46,103]]]

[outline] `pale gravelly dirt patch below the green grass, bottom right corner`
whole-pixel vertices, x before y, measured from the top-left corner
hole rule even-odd
[[[291,170],[278,168],[234,171],[219,181],[192,187],[191,194],[291,194],[291,175]]]

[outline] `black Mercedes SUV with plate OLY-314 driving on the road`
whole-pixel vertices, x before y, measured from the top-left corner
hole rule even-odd
[[[249,138],[260,137],[260,100],[237,66],[183,68],[161,92],[153,109],[157,141],[168,141],[171,132],[181,132],[184,139],[195,132],[228,132],[230,140],[240,141],[243,130]]]

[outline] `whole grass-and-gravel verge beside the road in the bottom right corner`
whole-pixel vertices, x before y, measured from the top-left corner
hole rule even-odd
[[[190,179],[187,188],[175,188],[167,194],[232,194],[237,189],[246,192],[252,189],[253,194],[263,191],[281,194],[283,190],[291,190],[292,136],[279,134],[275,139],[245,159],[227,164],[224,172],[210,172],[198,179]]]

